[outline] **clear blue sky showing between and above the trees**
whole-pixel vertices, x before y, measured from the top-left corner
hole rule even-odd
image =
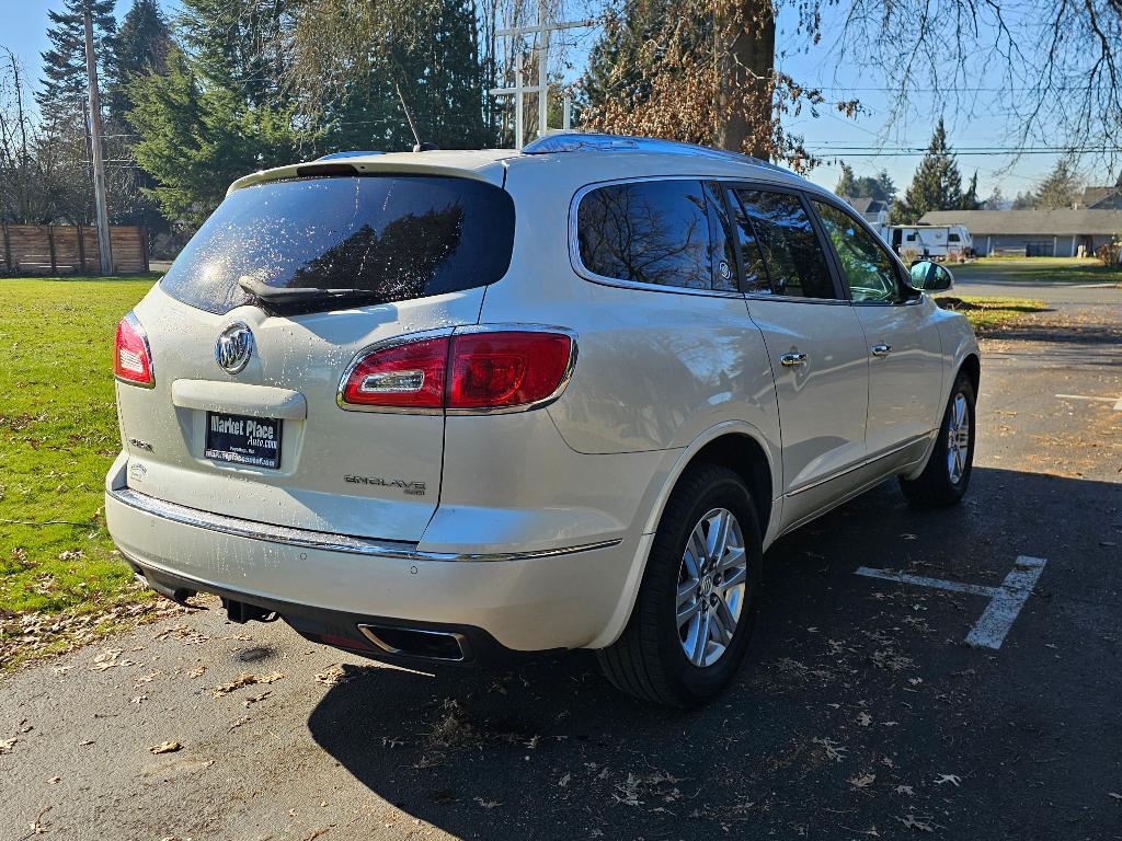
[[[123,16],[130,0],[118,1],[118,16]],[[174,2],[164,2],[165,9],[175,8]],[[39,54],[47,48],[47,10],[61,7],[61,0],[0,0],[0,44],[12,49],[24,62],[31,77],[39,72]],[[835,7],[827,15],[837,16]],[[835,30],[836,20],[827,17],[824,30]],[[789,13],[781,15],[776,38],[780,48],[784,44],[798,43],[791,35],[794,21]],[[578,47],[571,54],[577,58],[582,50]],[[579,61],[577,62],[579,64]],[[807,147],[824,154],[827,163],[810,174],[810,178],[833,187],[840,167],[839,157],[846,153],[830,154],[838,147],[861,147],[861,156],[849,153],[844,159],[857,175],[872,175],[885,168],[902,192],[911,182],[920,155],[900,155],[877,149],[888,147],[923,147],[930,139],[931,129],[938,113],[942,112],[953,147],[1003,146],[1009,129],[1001,114],[1002,94],[997,90],[964,94],[962,101],[951,107],[940,107],[929,93],[917,93],[909,100],[904,119],[890,121],[890,95],[883,89],[890,81],[870,73],[854,61],[839,66],[837,44],[829,37],[809,50],[789,53],[782,57],[780,66],[798,81],[807,85],[822,86],[829,99],[859,99],[863,112],[855,119],[839,115],[831,107],[820,109],[816,119],[803,113],[789,120],[788,128],[806,138]],[[981,89],[1000,89],[997,72],[976,68],[976,84]],[[1006,198],[1020,191],[1030,190],[1055,164],[1050,155],[1026,156],[1010,164],[1003,157],[959,155],[959,168],[964,182],[977,169],[978,192],[982,197],[1000,185]],[[1085,161],[1084,175],[1088,181],[1106,183],[1107,174],[1096,170],[1092,161]]]

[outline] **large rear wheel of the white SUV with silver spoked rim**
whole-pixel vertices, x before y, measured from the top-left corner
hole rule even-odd
[[[659,521],[627,627],[597,651],[611,684],[668,706],[724,688],[752,638],[762,555],[743,480],[715,464],[689,468]]]

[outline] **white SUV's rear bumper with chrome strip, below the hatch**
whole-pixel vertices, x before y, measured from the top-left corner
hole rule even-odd
[[[362,650],[375,647],[360,623],[448,629],[462,634],[480,659],[505,649],[603,644],[618,621],[636,552],[625,539],[537,553],[420,552],[407,543],[215,517],[137,493],[112,477],[105,519],[122,554],[156,589],[255,604],[309,636],[373,655],[379,651]]]

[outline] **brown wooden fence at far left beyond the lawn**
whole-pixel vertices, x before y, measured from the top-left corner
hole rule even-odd
[[[0,274],[101,274],[98,229],[90,225],[3,225]],[[148,238],[139,225],[109,229],[113,274],[148,270]]]

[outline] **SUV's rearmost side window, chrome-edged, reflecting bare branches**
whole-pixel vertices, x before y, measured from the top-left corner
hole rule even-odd
[[[709,218],[697,181],[613,184],[577,209],[580,259],[617,280],[712,288]]]

